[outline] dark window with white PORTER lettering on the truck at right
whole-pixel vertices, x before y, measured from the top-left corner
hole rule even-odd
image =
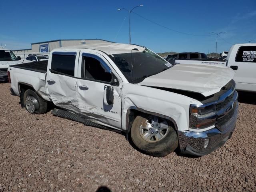
[[[236,62],[256,63],[256,46],[242,46],[236,54]]]

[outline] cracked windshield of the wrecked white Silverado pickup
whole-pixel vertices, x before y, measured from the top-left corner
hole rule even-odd
[[[129,53],[108,56],[130,83],[142,82],[144,78],[172,67],[170,63],[147,48],[142,52],[134,49]]]

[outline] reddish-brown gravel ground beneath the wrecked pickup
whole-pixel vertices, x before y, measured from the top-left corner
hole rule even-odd
[[[155,158],[122,134],[29,114],[9,87],[0,84],[0,192],[256,191],[256,94],[240,98],[236,130],[215,152]]]

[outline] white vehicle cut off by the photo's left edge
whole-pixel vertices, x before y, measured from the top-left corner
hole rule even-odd
[[[20,64],[20,57],[16,57],[11,50],[0,48],[0,82],[7,82],[9,65]]]

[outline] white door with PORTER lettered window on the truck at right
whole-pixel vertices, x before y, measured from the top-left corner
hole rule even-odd
[[[236,82],[256,84],[256,46],[234,47],[228,66],[235,71]]]

